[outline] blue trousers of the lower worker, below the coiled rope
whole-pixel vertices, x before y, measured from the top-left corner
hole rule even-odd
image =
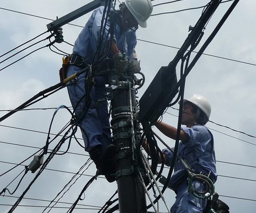
[[[199,182],[193,182],[193,187],[197,191],[203,191],[203,185]],[[188,181],[183,181],[177,191],[176,201],[171,207],[171,213],[203,213],[206,207],[206,199],[196,198],[191,192],[188,192]]]

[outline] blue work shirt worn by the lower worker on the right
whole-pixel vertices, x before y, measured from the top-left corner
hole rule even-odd
[[[182,127],[181,129],[188,137],[188,141],[179,143],[177,154],[197,173],[202,171],[203,174],[210,174],[212,181],[215,182],[217,171],[212,134],[202,125],[195,125],[191,128]],[[163,153],[167,158],[166,165],[170,166],[173,153],[169,149],[164,149]],[[169,187],[172,189],[177,187],[186,173],[182,163],[177,159]]]

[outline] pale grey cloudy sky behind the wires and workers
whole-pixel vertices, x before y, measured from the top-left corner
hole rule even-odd
[[[47,19],[62,17],[89,2],[91,1],[2,0],[0,4],[0,55],[47,31],[46,24],[51,22],[51,20]],[[153,5],[163,2],[165,1],[155,0]],[[154,7],[153,14],[199,7],[206,5],[207,2],[209,1],[185,0],[159,5]],[[199,50],[231,3],[223,3],[218,7],[207,24],[205,35],[195,51]],[[215,184],[215,190],[221,195],[220,199],[229,205],[230,212],[232,213],[254,212],[256,208],[256,163],[254,157],[256,149],[254,127],[256,123],[254,110],[256,105],[256,88],[254,83],[256,78],[255,6],[256,3],[252,0],[243,0],[238,3],[217,36],[206,48],[205,55],[202,55],[189,73],[185,88],[185,97],[198,93],[205,96],[211,102],[211,121],[254,136],[250,137],[235,132],[213,122],[207,124],[207,127],[212,130],[214,135],[215,152],[218,161],[217,170],[219,177]],[[148,27],[146,29],[138,29],[137,54],[141,60],[142,72],[146,76],[146,83],[138,93],[139,99],[159,68],[167,65],[174,58],[178,51],[177,48],[181,47],[188,36],[188,27],[195,25],[202,10],[197,9],[155,15],[148,20]],[[72,23],[77,26],[70,24],[63,26],[63,36],[66,42],[70,44],[75,42],[77,35],[82,29],[79,26],[84,26],[89,17],[90,14],[86,14],[73,21]],[[48,32],[22,48],[28,47],[49,35],[50,33]],[[47,47],[3,69],[26,54],[47,44],[49,44],[49,40],[30,47],[10,59],[7,58],[22,48],[1,56],[1,117],[8,112],[7,110],[15,109],[38,92],[59,82],[58,70],[61,66],[61,55],[52,52]],[[56,44],[56,46],[64,52],[71,53],[72,47],[66,43]],[[53,50],[56,49],[53,48]],[[194,55],[194,53],[191,55],[192,59]],[[178,73],[179,64],[177,66]],[[22,170],[24,166],[28,165],[32,158],[25,162],[22,161],[31,155],[33,156],[39,148],[45,145],[46,133],[49,130],[54,113],[54,109],[49,108],[57,108],[60,105],[70,106],[66,89],[62,89],[46,99],[29,106],[28,109],[31,110],[17,112],[1,122],[1,191],[7,186],[10,192],[13,192],[23,175]],[[174,108],[178,108],[178,105],[175,105]],[[178,111],[170,108],[164,114],[163,120],[176,126],[177,115]],[[69,120],[69,112],[65,109],[59,110],[53,121],[51,133],[57,134]],[[173,140],[163,135],[161,136],[170,146],[174,145]],[[53,138],[54,136],[51,137]],[[77,137],[81,137],[79,132]],[[50,145],[50,149],[57,142],[58,140],[55,140]],[[66,149],[67,144],[64,144],[62,150],[65,151]],[[14,212],[43,212],[43,207],[48,206],[49,201],[53,200],[61,192],[63,187],[77,173],[79,168],[84,165],[88,158],[83,148],[75,140],[72,141],[69,153],[56,155],[52,159],[47,166],[47,170],[44,170],[31,186],[25,195],[26,199],[20,202],[20,206]],[[20,166],[4,174],[5,171],[20,163]],[[167,172],[167,169],[165,172]],[[18,176],[20,173],[21,175]],[[51,212],[67,212],[67,208],[76,200],[81,189],[94,173],[95,168],[92,165],[84,171],[77,181],[75,181],[77,177],[73,179],[71,184],[74,184],[70,189],[68,190],[68,187],[71,184],[61,193],[62,195],[68,190],[60,200],[62,203],[58,203],[55,206],[58,208],[52,208]],[[15,193],[10,195],[6,191],[5,196],[0,197],[0,212],[7,212],[11,209],[11,206],[33,180],[35,174],[29,171]],[[17,179],[10,184],[15,177]],[[77,206],[79,209],[76,209],[74,212],[97,212],[97,210],[92,209],[103,206],[116,189],[116,183],[110,184],[106,179],[98,178],[86,190],[84,200],[79,201],[80,205]],[[171,190],[167,189],[164,196],[167,206],[170,208],[174,202],[175,195]],[[85,208],[92,209],[86,210]],[[159,209],[161,212],[167,212],[162,202],[159,204]],[[45,210],[45,212],[48,211],[50,211],[50,208]]]

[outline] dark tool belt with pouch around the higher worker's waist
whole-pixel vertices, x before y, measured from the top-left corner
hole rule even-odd
[[[85,62],[85,59],[79,55],[71,54],[64,56],[62,58],[62,67],[59,70],[61,82],[67,78],[67,69],[69,65],[74,65],[82,69],[89,67],[89,64]]]

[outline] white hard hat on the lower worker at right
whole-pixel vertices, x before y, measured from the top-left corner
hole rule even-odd
[[[201,109],[205,113],[207,119],[209,120],[210,114],[211,114],[211,104],[207,101],[207,99],[205,99],[204,96],[195,94],[189,99],[184,99],[183,103],[186,103],[186,102],[190,102],[196,105],[199,109]]]

